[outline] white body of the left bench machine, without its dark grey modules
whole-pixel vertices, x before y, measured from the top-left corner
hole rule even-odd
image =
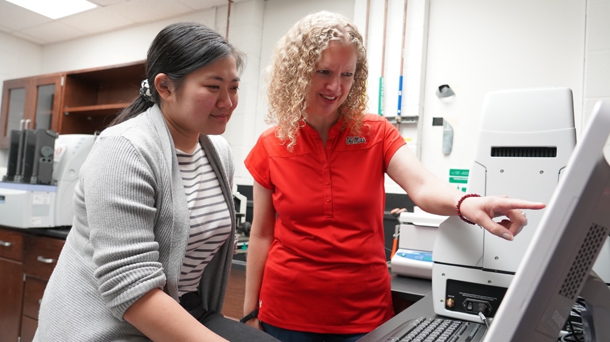
[[[0,182],[0,225],[14,228],[72,225],[74,187],[95,138],[92,134],[57,137],[50,184]]]

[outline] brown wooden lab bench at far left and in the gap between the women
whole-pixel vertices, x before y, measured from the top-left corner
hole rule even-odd
[[[29,342],[38,326],[38,310],[70,227],[12,228],[0,225],[0,342]],[[245,262],[235,255],[223,315],[243,314]]]

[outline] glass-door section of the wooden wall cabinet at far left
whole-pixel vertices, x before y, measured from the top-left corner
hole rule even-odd
[[[0,148],[8,148],[13,129],[59,128],[62,74],[4,81],[0,107]]]

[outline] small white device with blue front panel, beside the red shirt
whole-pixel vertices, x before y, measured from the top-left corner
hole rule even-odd
[[[432,278],[432,248],[439,224],[447,216],[426,213],[415,206],[413,212],[398,217],[398,249],[390,260],[392,273],[409,277]]]

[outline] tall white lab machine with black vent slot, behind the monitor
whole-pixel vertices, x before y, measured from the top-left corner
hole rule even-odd
[[[576,144],[572,91],[564,87],[486,94],[467,192],[548,203]],[[524,210],[528,225],[506,241],[457,216],[439,225],[432,260],[434,312],[493,318],[544,209]],[[497,220],[501,220],[498,217]]]

